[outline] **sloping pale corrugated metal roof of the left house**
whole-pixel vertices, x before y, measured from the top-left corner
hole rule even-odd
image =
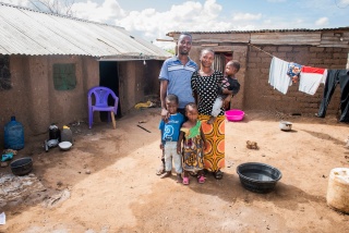
[[[159,59],[172,54],[123,27],[0,3],[0,54]]]

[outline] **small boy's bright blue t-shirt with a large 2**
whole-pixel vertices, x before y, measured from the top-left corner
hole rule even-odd
[[[159,124],[159,130],[161,131],[163,142],[178,142],[180,128],[184,122],[184,115],[181,113],[171,114],[168,122],[165,123],[163,120]]]

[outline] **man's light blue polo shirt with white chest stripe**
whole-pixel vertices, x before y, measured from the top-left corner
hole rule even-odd
[[[185,65],[177,58],[167,59],[159,74],[159,79],[168,81],[167,95],[173,94],[179,99],[178,108],[184,107],[194,102],[193,90],[191,87],[191,78],[193,73],[197,70],[197,64],[189,59]]]

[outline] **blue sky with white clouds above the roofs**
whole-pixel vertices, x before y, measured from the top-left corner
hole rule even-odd
[[[62,0],[61,2],[69,1]],[[0,0],[29,7],[29,0]],[[349,0],[74,0],[75,17],[122,26],[170,49],[170,32],[334,28],[349,26]]]

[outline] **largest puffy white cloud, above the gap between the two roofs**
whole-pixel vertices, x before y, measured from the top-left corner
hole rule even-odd
[[[207,32],[228,30],[231,23],[219,22],[221,5],[216,0],[186,1],[172,5],[168,11],[156,12],[154,9],[132,11],[125,17],[116,19],[116,24],[128,30],[144,32],[146,38],[166,38],[169,32]],[[157,44],[157,42],[155,42]]]

